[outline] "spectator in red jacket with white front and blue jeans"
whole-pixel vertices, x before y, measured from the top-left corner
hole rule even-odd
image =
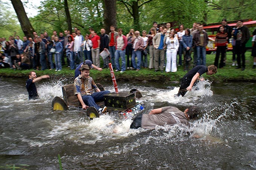
[[[115,64],[116,71],[120,71],[119,58],[121,57],[122,65],[120,73],[126,70],[126,61],[125,61],[125,48],[127,46],[127,38],[123,35],[123,30],[118,29],[118,36],[116,37],[116,51],[115,51]]]

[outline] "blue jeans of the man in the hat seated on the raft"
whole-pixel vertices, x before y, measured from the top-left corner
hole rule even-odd
[[[102,102],[104,100],[103,95],[108,94],[108,93],[110,93],[110,91],[108,91],[108,90],[100,91],[100,92],[93,93],[91,95],[82,96],[82,99],[83,99],[85,105],[93,106],[94,108],[99,110],[99,108],[101,108],[101,107],[99,105],[97,105],[96,102]]]

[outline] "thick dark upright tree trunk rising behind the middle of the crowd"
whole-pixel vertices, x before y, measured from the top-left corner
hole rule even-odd
[[[104,0],[104,28],[107,34],[110,26],[116,27],[116,0]]]

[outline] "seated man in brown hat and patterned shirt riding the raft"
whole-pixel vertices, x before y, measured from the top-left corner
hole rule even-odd
[[[101,108],[96,102],[102,102],[104,100],[104,94],[108,94],[110,91],[99,90],[93,79],[89,76],[91,69],[87,64],[83,64],[79,68],[81,74],[75,79],[74,95],[78,97],[83,109],[93,106],[101,114],[107,110],[107,107],[104,106],[104,108]]]

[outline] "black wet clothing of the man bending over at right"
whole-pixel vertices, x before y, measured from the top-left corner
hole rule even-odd
[[[199,73],[201,76],[202,74],[206,73],[208,71],[208,68],[205,65],[197,65],[196,67],[192,68],[185,76],[182,77],[180,81],[180,89],[179,90],[184,90],[187,87],[189,87],[190,82],[192,78],[195,76],[195,74]],[[187,93],[187,91],[181,91],[177,94],[177,96],[184,96]]]

